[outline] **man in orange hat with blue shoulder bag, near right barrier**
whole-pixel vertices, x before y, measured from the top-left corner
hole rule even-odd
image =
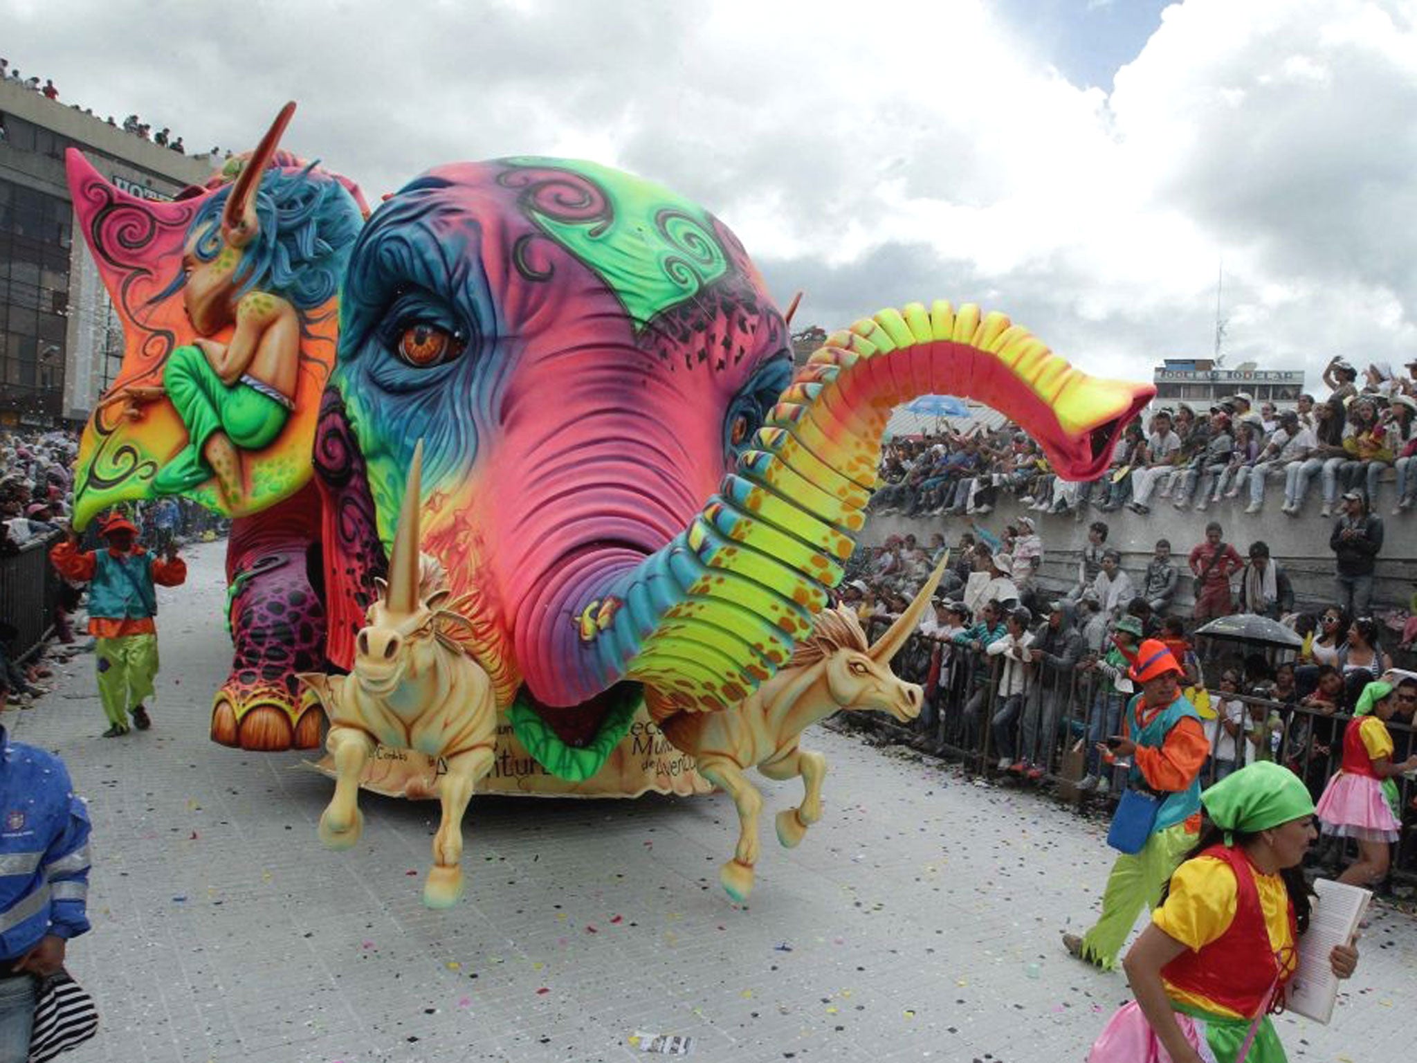
[[[1161,798],[1151,835],[1136,853],[1121,853],[1102,893],[1102,914],[1083,937],[1064,934],[1067,951],[1104,971],[1117,957],[1142,909],[1155,909],[1162,887],[1196,843],[1200,831],[1200,768],[1210,743],[1200,716],[1180,693],[1185,677],[1165,642],[1146,639],[1128,679],[1141,687],[1127,709],[1125,734],[1098,750],[1108,760],[1131,757],[1127,787]]]

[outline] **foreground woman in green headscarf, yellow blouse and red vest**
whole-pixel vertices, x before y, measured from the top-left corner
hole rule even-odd
[[[1309,924],[1299,863],[1316,838],[1314,799],[1285,767],[1258,761],[1200,795],[1207,825],[1176,869],[1122,967],[1136,999],[1088,1063],[1284,1063],[1270,1012],[1298,965]],[[1348,978],[1357,950],[1339,945]]]

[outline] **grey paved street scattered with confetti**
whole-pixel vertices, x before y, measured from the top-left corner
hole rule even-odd
[[[479,797],[468,896],[428,911],[436,805],[364,797],[364,839],[329,853],[327,780],[207,741],[222,549],[188,550],[188,585],[159,591],[154,730],[98,737],[88,653],[6,714],[91,802],[94,931],[71,968],[103,1028],[74,1063],[649,1059],[636,1033],[706,1062],[1081,1060],[1127,998],[1058,945],[1101,893],[1098,823],[820,729],[823,821],[781,849],[796,784],[761,782],[747,907],[717,883],[723,795]],[[1417,921],[1380,909],[1362,947],[1331,1026],[1281,1019],[1291,1059],[1410,1052]]]

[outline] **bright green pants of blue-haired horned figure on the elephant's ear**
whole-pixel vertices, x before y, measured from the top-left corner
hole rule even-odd
[[[259,451],[275,442],[290,420],[288,407],[251,384],[222,384],[198,347],[177,347],[167,356],[163,387],[187,425],[187,445],[157,473],[153,488],[159,495],[188,490],[211,476],[201,448],[214,432],[225,432],[242,451]]]

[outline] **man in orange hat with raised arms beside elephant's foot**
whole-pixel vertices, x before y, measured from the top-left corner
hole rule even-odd
[[[128,734],[128,719],[146,731],[153,726],[143,702],[153,694],[157,675],[157,592],[153,584],[177,587],[187,563],[169,543],[164,557],[137,546],[137,529],[122,513],[99,524],[106,550],[79,551],[79,537],[68,529],[50,560],[68,580],[89,581],[89,635],[98,658],[98,696],[109,729],[105,738]]]

